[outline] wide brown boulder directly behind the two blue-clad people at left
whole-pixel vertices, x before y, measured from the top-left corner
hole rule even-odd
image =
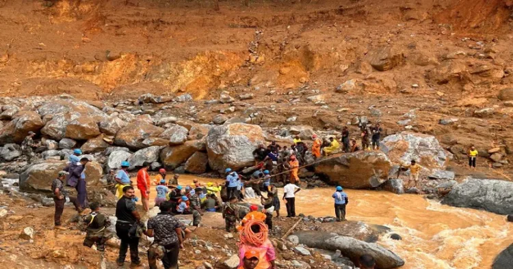
[[[57,173],[66,167],[65,160],[41,162],[31,165],[20,175],[20,189],[27,191],[49,191]],[[86,165],[86,183],[88,186],[100,184],[103,170],[98,162]]]

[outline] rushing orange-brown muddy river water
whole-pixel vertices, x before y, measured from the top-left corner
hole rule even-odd
[[[194,178],[182,175],[179,183],[192,184]],[[296,213],[333,216],[332,192],[333,188],[301,190],[296,198]],[[282,188],[279,193],[282,197]],[[405,269],[491,268],[493,259],[513,242],[513,224],[507,223],[505,216],[443,206],[420,195],[371,190],[346,193],[350,199],[347,219],[386,225],[402,236],[403,240],[396,241],[385,235],[378,243],[402,257]],[[154,195],[155,190],[152,203]],[[287,214],[285,205],[280,212],[282,216]]]

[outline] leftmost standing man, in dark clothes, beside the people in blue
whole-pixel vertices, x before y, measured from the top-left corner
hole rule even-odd
[[[79,201],[76,197],[70,197],[66,190],[64,190],[64,180],[66,179],[66,175],[68,173],[66,171],[60,171],[57,174],[57,178],[53,180],[51,184],[51,190],[53,193],[53,201],[55,202],[55,216],[54,216],[54,224],[55,229],[65,230],[66,228],[61,226],[61,216],[64,211],[64,203],[66,201],[70,201],[75,206],[75,210],[77,212],[82,212],[82,208],[80,206]]]

